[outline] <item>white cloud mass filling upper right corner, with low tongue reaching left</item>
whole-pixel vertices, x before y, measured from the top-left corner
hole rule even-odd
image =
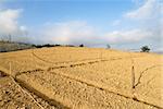
[[[136,1],[138,2],[138,0]],[[104,38],[113,44],[154,40],[156,45],[163,38],[161,14],[161,5],[158,0],[146,0],[143,5],[124,14],[127,23],[136,23],[137,26],[133,25],[130,29],[110,32]]]

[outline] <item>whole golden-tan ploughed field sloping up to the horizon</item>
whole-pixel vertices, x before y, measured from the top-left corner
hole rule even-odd
[[[77,47],[0,53],[0,109],[162,109],[162,73],[163,56],[154,53]]]

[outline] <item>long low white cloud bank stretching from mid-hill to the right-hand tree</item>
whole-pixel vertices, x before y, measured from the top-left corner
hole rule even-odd
[[[46,27],[40,38],[43,43],[55,44],[85,44],[88,46],[98,46],[105,44],[138,43],[145,38],[151,38],[154,32],[148,29],[126,29],[114,31],[104,34],[98,34],[95,27],[83,21],[73,21],[64,23],[46,23]]]

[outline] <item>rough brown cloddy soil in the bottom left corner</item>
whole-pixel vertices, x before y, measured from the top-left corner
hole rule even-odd
[[[40,109],[10,77],[0,78],[1,109]]]

